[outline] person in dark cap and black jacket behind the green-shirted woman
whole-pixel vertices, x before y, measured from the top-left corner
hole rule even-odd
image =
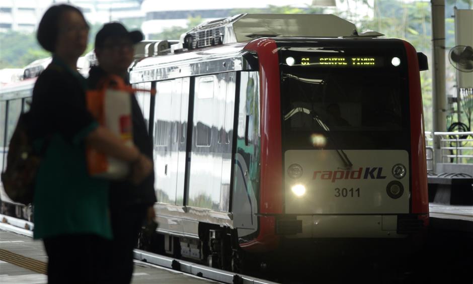
[[[140,31],[128,32],[118,22],[105,24],[95,38],[95,53],[99,66],[93,66],[90,69],[89,88],[100,88],[101,83],[109,75],[118,75],[129,84],[128,67],[133,60],[133,45],[142,39],[143,34]],[[134,94],[130,96],[130,100],[133,143],[152,160],[152,141]],[[138,234],[144,221],[151,224],[154,222],[155,214],[152,206],[155,202],[154,172],[151,172],[138,185],[129,181],[111,182],[110,216],[113,240],[104,247],[109,259],[104,262],[101,282],[129,283],[131,281],[133,249],[137,244]]]

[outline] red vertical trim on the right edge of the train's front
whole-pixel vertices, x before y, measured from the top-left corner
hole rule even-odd
[[[425,214],[429,214],[427,192],[427,164],[425,157],[424,112],[422,107],[421,79],[416,49],[407,41],[407,62],[409,62],[409,106],[411,115],[411,192],[412,212],[424,214],[421,218],[428,224]]]

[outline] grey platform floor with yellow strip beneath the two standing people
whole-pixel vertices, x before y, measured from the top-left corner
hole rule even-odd
[[[47,283],[43,242],[0,229],[0,283]],[[71,275],[73,277],[73,275]],[[135,261],[132,283],[219,283],[171,269]]]

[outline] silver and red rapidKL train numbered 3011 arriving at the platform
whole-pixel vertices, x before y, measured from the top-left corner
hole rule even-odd
[[[154,147],[150,247],[238,271],[303,241],[422,235],[427,57],[382,36],[334,15],[240,14],[140,43],[130,82],[156,89],[136,93]],[[3,147],[34,78],[17,84],[2,88]]]

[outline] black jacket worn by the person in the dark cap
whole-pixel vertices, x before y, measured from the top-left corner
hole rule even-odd
[[[98,84],[107,76],[107,73],[99,66],[94,66],[89,71],[89,88],[98,88]],[[126,83],[129,84],[128,81]],[[133,94],[131,97],[131,112],[133,124],[133,143],[153,160],[152,140],[148,135],[144,123],[143,114]],[[129,181],[113,181],[110,186],[110,207],[124,207],[131,205],[149,206],[156,202],[154,192],[154,170],[139,185],[133,185]]]

